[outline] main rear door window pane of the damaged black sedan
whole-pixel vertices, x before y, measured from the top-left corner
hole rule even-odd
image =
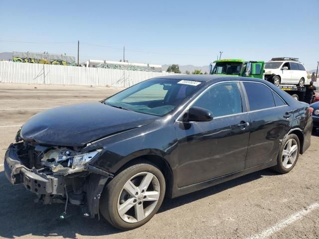
[[[275,107],[272,91],[265,85],[244,82],[251,111]]]

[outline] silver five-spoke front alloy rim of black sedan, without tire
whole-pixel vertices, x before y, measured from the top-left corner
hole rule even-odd
[[[124,184],[118,197],[117,210],[125,222],[137,223],[153,212],[159,198],[159,179],[153,173],[141,172]]]

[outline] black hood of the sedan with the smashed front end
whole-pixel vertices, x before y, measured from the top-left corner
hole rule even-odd
[[[153,122],[159,117],[122,110],[101,103],[54,108],[27,120],[24,140],[59,146],[84,146],[101,137]]]

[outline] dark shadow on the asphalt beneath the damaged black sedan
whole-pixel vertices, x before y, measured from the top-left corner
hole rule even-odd
[[[276,175],[270,170],[261,170],[231,181],[200,190],[175,199],[165,198],[158,213],[194,202],[245,184],[265,175]],[[67,215],[62,220],[60,215],[64,211],[63,204],[42,205],[34,203],[36,196],[27,191],[22,185],[11,185],[4,172],[0,172],[0,237],[16,238],[26,235],[76,238],[81,236],[106,236],[121,233],[112,227],[105,219],[87,219],[82,217],[81,208],[69,206]]]

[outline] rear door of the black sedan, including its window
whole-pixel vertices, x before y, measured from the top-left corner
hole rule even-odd
[[[251,120],[245,168],[276,160],[281,140],[288,132],[293,113],[280,96],[263,83],[243,82]]]

